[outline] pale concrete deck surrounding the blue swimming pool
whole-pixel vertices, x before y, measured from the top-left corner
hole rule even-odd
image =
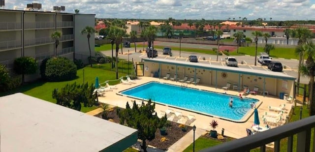
[[[129,89],[129,88],[132,88],[132,87],[144,84],[144,83],[148,83],[150,81],[158,81],[158,82],[174,84],[174,85],[178,85],[178,86],[181,86],[181,84],[182,84],[181,82],[163,80],[163,79],[158,79],[158,78],[153,78],[153,77],[138,77],[138,79],[135,80],[135,82],[136,82],[135,84],[130,84],[130,85],[122,84],[122,83],[118,84],[118,85],[116,85],[117,89],[113,89],[112,91],[106,91],[105,97],[99,97],[98,100],[99,100],[99,102],[107,103],[107,104],[110,104],[113,106],[118,106],[121,108],[126,108],[126,102],[128,101],[129,105],[132,106],[133,103],[131,102],[131,100],[134,101],[135,99],[129,98],[127,96],[118,95],[117,93],[119,91],[124,91],[126,89]],[[231,94],[231,95],[238,95],[239,94],[238,91],[222,90],[221,87],[223,87],[223,86],[218,87],[216,89],[213,86],[209,87],[209,86],[203,86],[203,85],[188,84],[187,87],[201,89],[201,90],[207,90],[207,91],[221,92],[221,93],[226,92],[226,94]],[[159,92],[157,92],[157,93],[159,93]],[[259,94],[257,94],[257,95],[250,94],[250,95],[247,95],[246,97],[255,98],[255,99],[259,100],[259,103],[256,104],[256,107],[258,109],[258,114],[259,114],[259,118],[260,118],[259,120],[260,120],[261,126],[265,125],[265,124],[263,124],[263,121],[261,118],[262,115],[265,112],[270,113],[268,106],[279,107],[280,104],[285,104],[286,110],[284,110],[284,114],[283,114],[283,118],[285,120],[285,116],[288,115],[288,112],[290,111],[292,103],[293,103],[293,102],[288,103],[287,101],[285,101],[283,99],[279,99],[279,97],[271,96],[271,95],[267,95],[264,97],[264,96],[259,95]],[[136,99],[136,101],[140,102],[140,100],[137,100],[137,99]],[[190,124],[190,126],[195,125],[198,129],[198,134],[196,134],[195,139],[197,139],[199,136],[201,136],[203,134],[203,133],[201,133],[202,130],[204,132],[212,130],[212,128],[210,126],[210,122],[212,120],[218,121],[219,125],[216,128],[218,133],[221,134],[221,130],[222,130],[222,128],[224,128],[224,135],[225,136],[229,136],[229,137],[236,138],[236,139],[247,136],[246,128],[251,128],[253,121],[254,121],[254,117],[252,114],[253,110],[250,112],[250,114],[248,114],[250,116],[244,117],[244,118],[249,118],[246,122],[238,123],[238,122],[225,121],[225,120],[221,120],[218,118],[213,118],[213,117],[209,117],[209,116],[205,116],[205,115],[201,115],[201,114],[197,114],[197,113],[193,113],[193,112],[189,112],[189,111],[185,111],[185,110],[181,110],[181,109],[176,109],[173,107],[168,107],[168,106],[156,104],[156,112],[158,113],[158,116],[161,114],[161,111],[166,111],[168,109],[173,110],[173,112],[181,112],[182,115],[184,115],[184,116],[189,116],[189,115],[195,116],[194,119],[196,119],[196,120]],[[274,128],[276,126],[271,126],[271,127]],[[196,131],[196,133],[197,133],[197,131]],[[188,134],[190,134],[190,132]],[[175,143],[173,146],[171,146],[169,148],[168,152],[176,152],[176,151],[180,152],[180,151],[185,150],[189,146],[189,144],[192,143],[190,136],[192,136],[192,133],[191,133],[191,135],[189,135],[189,138],[188,138],[189,142],[185,142],[185,140],[184,141],[179,140],[177,143],[180,144],[181,146],[178,146],[178,144],[176,145],[176,143]],[[182,138],[182,139],[185,139],[185,138]],[[188,145],[185,146],[185,144],[183,142],[187,143]]]

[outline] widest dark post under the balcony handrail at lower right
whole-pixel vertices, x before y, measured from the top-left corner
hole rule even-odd
[[[310,151],[311,129],[306,128],[304,131],[297,133],[296,151]]]

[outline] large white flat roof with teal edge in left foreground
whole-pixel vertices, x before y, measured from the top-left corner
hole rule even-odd
[[[0,97],[3,152],[115,152],[138,131],[23,93]]]

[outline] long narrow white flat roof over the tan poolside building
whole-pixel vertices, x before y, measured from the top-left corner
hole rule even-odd
[[[277,79],[285,79],[285,80],[293,80],[293,81],[296,79],[295,77],[286,75],[283,72],[261,71],[261,70],[247,69],[247,68],[241,68],[241,67],[220,66],[220,65],[211,65],[211,64],[205,64],[205,63],[174,61],[174,60],[166,60],[166,59],[143,59],[143,60],[156,62],[156,63],[177,65],[177,66],[195,67],[195,68],[215,70],[215,71],[255,75],[255,76],[261,76],[261,77],[267,77],[267,78],[277,78]]]

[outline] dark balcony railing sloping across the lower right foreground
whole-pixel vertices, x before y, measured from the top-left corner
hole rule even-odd
[[[286,137],[288,138],[286,152],[292,152],[293,135],[295,134],[297,134],[297,152],[310,152],[311,130],[314,127],[315,116],[312,116],[267,131],[259,132],[248,137],[225,142],[218,146],[202,150],[201,152],[250,152],[250,150],[257,147],[260,147],[260,152],[265,152],[265,145],[271,142],[274,142],[275,144],[274,152],[280,152],[280,140]],[[244,129],[244,131],[246,130]],[[315,150],[315,144],[313,144],[313,150]]]

